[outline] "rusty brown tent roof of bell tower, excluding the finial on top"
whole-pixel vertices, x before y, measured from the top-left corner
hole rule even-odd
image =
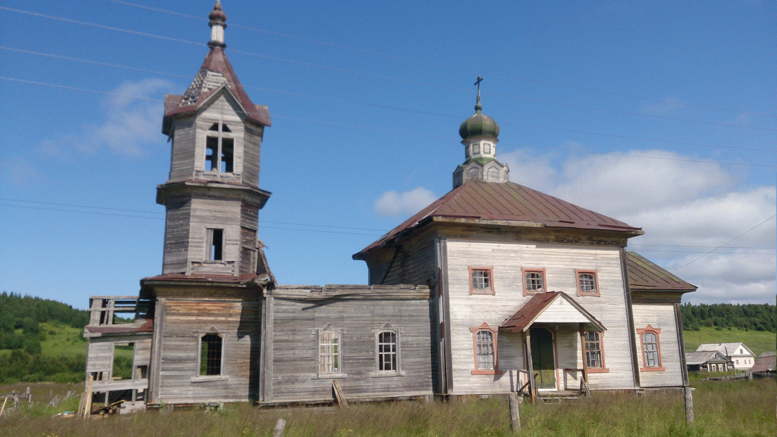
[[[213,78],[208,77],[208,72],[216,73],[223,78],[213,80]],[[267,106],[254,105],[251,102],[246,90],[242,88],[235,70],[232,69],[232,64],[229,63],[224,48],[216,46],[211,47],[211,51],[205,57],[192,85],[186,90],[186,102],[183,102],[184,95],[165,96],[165,120],[162,122],[162,133],[169,134],[168,117],[196,112],[197,108],[219,88],[218,85],[221,85],[219,82],[226,83],[240,105],[246,110],[246,115],[250,120],[264,126],[270,126],[270,112],[267,110]],[[191,102],[188,99],[191,99]]]

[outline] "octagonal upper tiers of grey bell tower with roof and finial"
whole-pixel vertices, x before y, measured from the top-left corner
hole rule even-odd
[[[170,174],[157,187],[166,208],[162,273],[246,275],[256,272],[260,150],[270,126],[225,54],[226,14],[208,15],[210,51],[183,95],[165,96],[162,133],[172,142]]]

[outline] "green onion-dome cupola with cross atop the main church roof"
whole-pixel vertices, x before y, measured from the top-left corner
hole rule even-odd
[[[485,182],[510,181],[510,168],[507,168],[507,164],[497,161],[499,125],[493,118],[481,112],[483,105],[480,104],[480,82],[483,82],[483,76],[478,76],[474,84],[478,87],[475,114],[458,128],[458,134],[464,144],[465,161],[453,172],[453,188],[462,186],[471,179]]]

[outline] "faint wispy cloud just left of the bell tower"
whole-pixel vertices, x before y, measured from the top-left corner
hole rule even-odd
[[[162,102],[132,97],[161,100],[161,92],[170,85],[171,82],[162,79],[124,82],[103,102],[103,123],[85,125],[79,134],[63,134],[45,140],[38,151],[55,156],[68,151],[95,153],[106,147],[116,154],[140,156],[146,144],[159,141],[159,120],[162,120],[164,108]]]

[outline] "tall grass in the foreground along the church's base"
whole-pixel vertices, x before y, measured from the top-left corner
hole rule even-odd
[[[777,435],[774,380],[695,383],[695,423],[685,423],[678,393],[594,394],[563,404],[522,404],[522,436],[561,437],[723,437]],[[2,390],[2,388],[0,388]],[[166,435],[170,437],[272,435],[278,418],[285,437],[457,437],[514,435],[507,400],[467,398],[450,403],[389,402],[350,408],[262,410],[232,404],[219,410],[148,411],[80,421],[33,417],[16,411],[0,419],[3,435],[47,437]]]

